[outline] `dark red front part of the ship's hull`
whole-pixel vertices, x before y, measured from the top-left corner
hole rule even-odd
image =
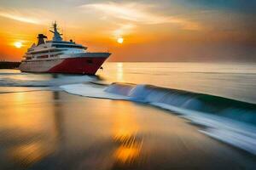
[[[49,69],[49,73],[74,73],[94,75],[107,58],[69,58]]]

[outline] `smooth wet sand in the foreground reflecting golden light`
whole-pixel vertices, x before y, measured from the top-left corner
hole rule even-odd
[[[256,158],[148,105],[0,94],[0,169],[255,169]]]

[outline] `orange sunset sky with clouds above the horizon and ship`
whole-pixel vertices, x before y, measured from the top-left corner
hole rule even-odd
[[[52,37],[56,20],[65,40],[109,51],[108,61],[256,61],[255,8],[249,0],[0,0],[0,59],[20,60],[38,33]]]

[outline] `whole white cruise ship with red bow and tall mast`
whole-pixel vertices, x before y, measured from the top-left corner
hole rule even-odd
[[[101,68],[109,53],[90,53],[81,44],[63,41],[56,22],[53,24],[54,36],[51,41],[38,34],[38,43],[27,49],[20,64],[23,72],[71,73],[94,75]]]

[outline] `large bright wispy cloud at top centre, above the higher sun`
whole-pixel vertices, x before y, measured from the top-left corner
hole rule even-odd
[[[184,30],[199,30],[200,26],[192,21],[166,14],[153,13],[156,6],[143,3],[90,3],[81,5],[84,10],[96,10],[110,17],[128,20],[140,24],[157,25],[171,23],[181,26]]]

